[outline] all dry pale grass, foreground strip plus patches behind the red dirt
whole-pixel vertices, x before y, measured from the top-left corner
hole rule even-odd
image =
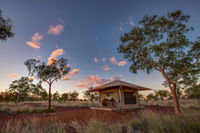
[[[171,101],[148,101],[142,104],[155,104],[162,106],[171,106]],[[20,105],[22,109],[30,109],[37,105],[39,109],[46,108],[46,102],[35,102],[34,104]],[[53,103],[53,107],[89,107],[95,105],[88,102],[68,102]],[[132,118],[119,123],[107,123],[105,121],[90,119],[86,123],[76,120],[62,122],[56,120],[54,123],[44,124],[40,119],[33,117],[30,119],[7,121],[0,128],[0,133],[199,133],[200,132],[200,101],[182,100],[183,114],[175,116],[166,112],[156,113],[151,110],[139,112],[139,118]],[[4,109],[15,109],[13,103],[1,103]],[[13,110],[16,111],[16,110]],[[48,114],[48,113],[47,113]],[[86,114],[82,114],[86,115]]]

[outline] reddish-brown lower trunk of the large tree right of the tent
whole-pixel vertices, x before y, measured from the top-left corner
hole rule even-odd
[[[174,104],[175,113],[181,114],[179,99],[176,92],[176,84],[172,84],[171,92],[173,96],[173,104]]]

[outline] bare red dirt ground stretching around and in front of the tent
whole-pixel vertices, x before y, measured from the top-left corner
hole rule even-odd
[[[89,120],[95,119],[104,121],[107,123],[121,123],[133,119],[140,118],[141,111],[154,111],[156,113],[170,113],[173,114],[174,110],[172,107],[163,106],[145,106],[144,108],[126,111],[102,111],[92,110],[89,108],[69,108],[69,107],[57,107],[56,112],[53,113],[33,113],[33,114],[18,114],[15,118],[14,115],[0,114],[0,125],[3,125],[9,120],[32,120],[39,119],[43,124],[51,122],[72,122],[77,121],[81,123],[87,123]]]

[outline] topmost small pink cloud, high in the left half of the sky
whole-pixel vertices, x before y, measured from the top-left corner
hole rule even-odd
[[[49,26],[48,34],[50,35],[59,35],[64,29],[64,25],[58,24],[55,26]]]

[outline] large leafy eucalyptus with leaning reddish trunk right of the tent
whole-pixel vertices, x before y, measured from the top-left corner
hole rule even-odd
[[[161,73],[176,113],[181,113],[177,89],[188,81],[196,82],[200,72],[200,39],[191,41],[186,36],[193,30],[187,25],[189,18],[179,10],[161,17],[144,16],[139,26],[121,37],[118,48],[131,62],[131,72]]]

